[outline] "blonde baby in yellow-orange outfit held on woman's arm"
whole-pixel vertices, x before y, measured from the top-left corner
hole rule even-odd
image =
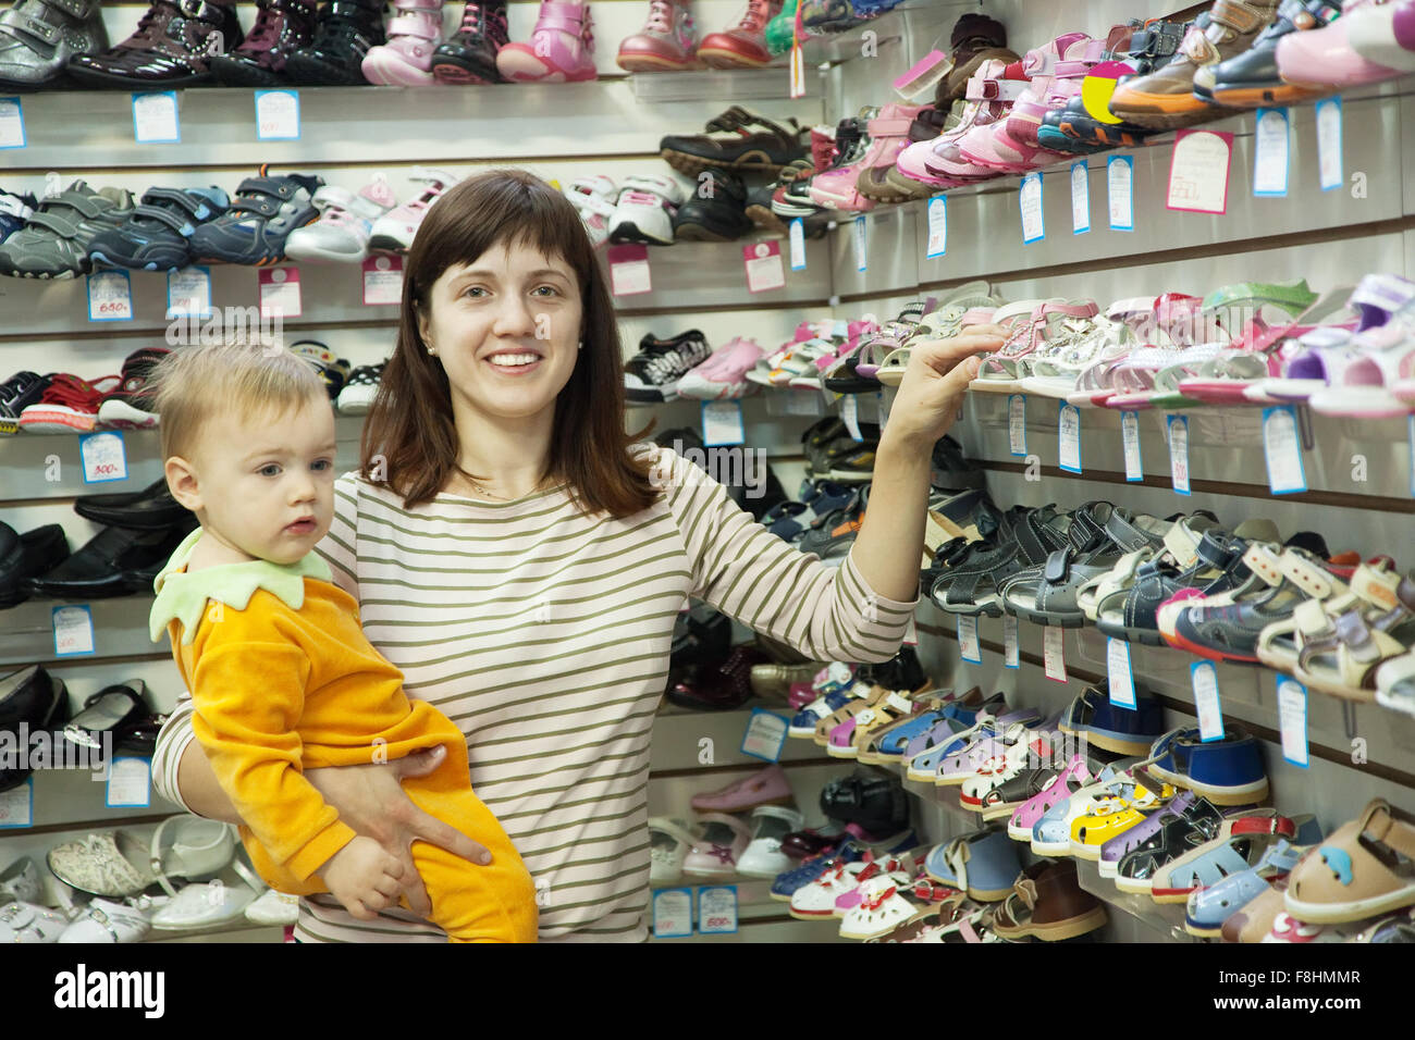
[[[246,824],[256,870],[279,891],[328,891],[371,917],[366,904],[399,889],[398,860],[342,824],[304,770],[441,744],[441,765],[403,791],[492,862],[415,842],[430,920],[456,942],[533,942],[535,883],[471,791],[466,737],[403,692],[358,603],[311,552],[333,519],[335,447],[314,369],[283,349],[192,347],[168,355],[156,381],[167,487],[201,528],[157,576],[151,637],[171,637],[192,729]]]

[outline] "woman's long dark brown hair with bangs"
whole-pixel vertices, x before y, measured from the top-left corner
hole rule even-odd
[[[624,430],[624,355],[594,246],[574,207],[522,170],[491,170],[461,181],[417,228],[403,267],[398,345],[364,424],[361,474],[402,495],[406,508],[432,501],[453,473],[475,478],[457,464],[447,372],[427,354],[417,316],[430,308],[433,283],[443,272],[511,243],[563,258],[579,279],[583,301],[584,347],[555,402],[543,475],[565,481],[586,512],[614,518],[640,512],[659,491],[649,478],[652,457],[630,451],[647,430]]]

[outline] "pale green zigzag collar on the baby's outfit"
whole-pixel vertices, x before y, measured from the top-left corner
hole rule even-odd
[[[188,574],[183,567],[187,566],[191,550],[197,548],[200,539],[201,528],[187,535],[153,583],[157,600],[153,603],[153,613],[147,623],[153,642],[158,642],[168,623],[177,618],[183,627],[181,641],[190,644],[197,638],[197,627],[201,624],[202,611],[207,610],[209,600],[224,603],[232,610],[245,610],[256,589],[265,589],[277,596],[290,610],[300,610],[304,606],[306,577],[314,577],[320,582],[334,580],[330,565],[313,552],[290,565],[250,560],[249,563],[205,567]]]

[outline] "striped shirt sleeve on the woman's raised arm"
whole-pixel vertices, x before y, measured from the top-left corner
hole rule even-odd
[[[672,449],[659,468],[693,574],[693,596],[815,661],[887,661],[914,603],[876,593],[853,556],[839,567],[802,553],[739,508],[727,490]]]

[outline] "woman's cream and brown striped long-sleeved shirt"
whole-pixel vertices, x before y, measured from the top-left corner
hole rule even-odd
[[[674,623],[689,597],[821,661],[884,661],[911,603],[874,594],[768,533],[669,449],[662,497],[624,519],[584,515],[565,487],[514,502],[439,495],[413,509],[345,474],[318,552],[409,695],[467,734],[473,790],[541,893],[541,938],[647,935],[648,764]],[[154,760],[178,801],[183,700]],[[358,921],[301,904],[304,941],[441,941],[406,911]]]

